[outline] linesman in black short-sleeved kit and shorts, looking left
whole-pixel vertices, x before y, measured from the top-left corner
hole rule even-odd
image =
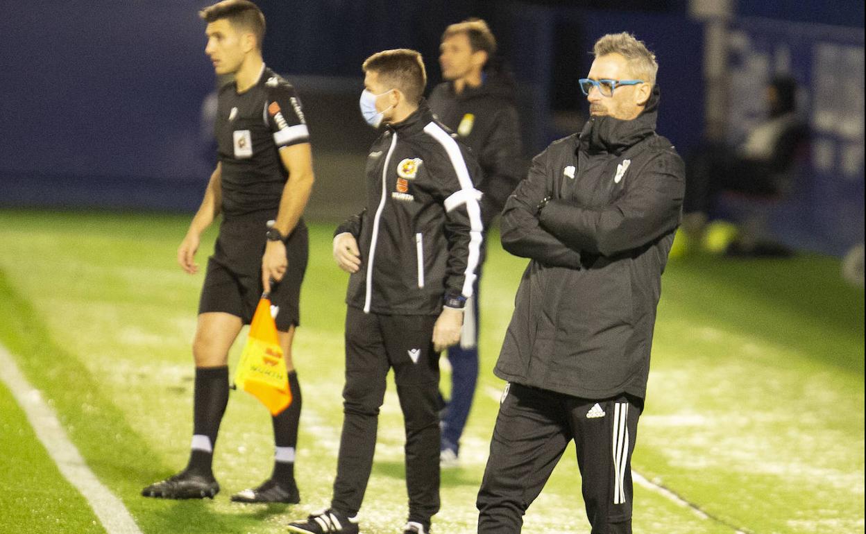
[[[273,418],[271,477],[232,500],[297,503],[294,447],[301,389],[291,349],[307,268],[307,227],[301,214],[313,187],[309,135],[294,88],[262,61],[262,11],[246,0],[225,0],[200,15],[207,22],[204,51],[216,74],[233,75],[235,80],[219,92],[219,163],[178,248],[178,263],[184,271],[197,273],[194,257],[200,235],[220,213],[223,222],[208,261],[192,345],[196,383],[189,464],[181,473],[145,487],[142,494],[202,499],[219,492],[211,460],[229,400],[229,348],[252,319],[262,292],[268,292],[275,306],[293,401]]]

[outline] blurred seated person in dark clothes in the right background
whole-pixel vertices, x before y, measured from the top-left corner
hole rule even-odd
[[[790,189],[792,164],[809,138],[797,114],[797,82],[773,78],[766,99],[769,116],[740,145],[703,145],[688,158],[682,221],[688,241],[701,241],[721,191],[772,197]]]

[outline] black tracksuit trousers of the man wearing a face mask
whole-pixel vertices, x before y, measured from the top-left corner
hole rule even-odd
[[[385,378],[394,369],[406,430],[409,520],[430,526],[439,511],[439,354],[436,316],[346,312],[346,386],[343,434],[331,507],[352,517],[364,499],[376,448]]]

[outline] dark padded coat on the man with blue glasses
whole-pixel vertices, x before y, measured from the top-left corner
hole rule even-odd
[[[532,261],[494,370],[502,379],[587,399],[646,395],[685,189],[682,159],[656,134],[657,104],[656,88],[637,119],[590,119],[534,158],[508,198],[502,245]]]

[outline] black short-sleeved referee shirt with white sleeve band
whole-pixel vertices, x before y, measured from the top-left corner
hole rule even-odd
[[[235,82],[226,84],[219,92],[215,135],[223,216],[275,218],[288,178],[279,150],[310,140],[294,87],[264,66],[243,93]]]

